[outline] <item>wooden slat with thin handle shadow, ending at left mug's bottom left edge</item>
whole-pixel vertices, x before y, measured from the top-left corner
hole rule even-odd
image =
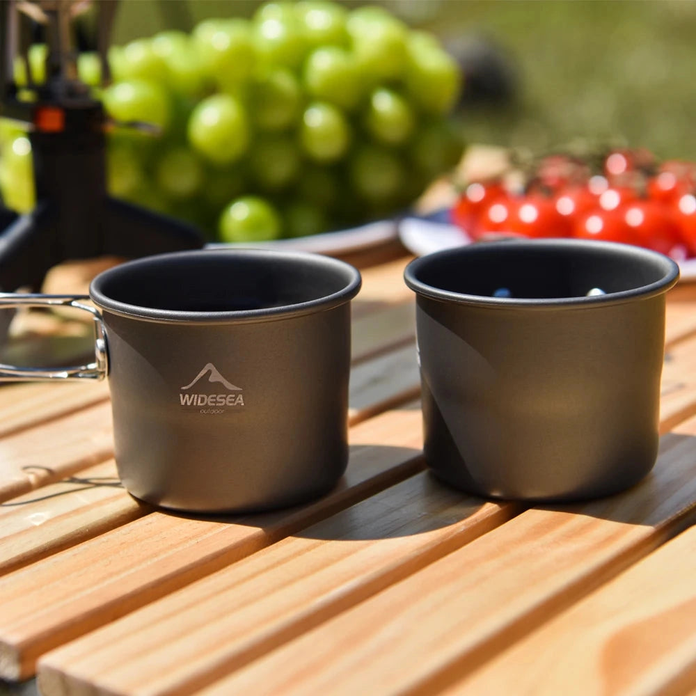
[[[0,575],[150,512],[124,494],[113,460],[0,503]]]

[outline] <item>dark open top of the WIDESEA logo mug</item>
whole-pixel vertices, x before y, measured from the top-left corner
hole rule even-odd
[[[116,313],[155,319],[239,317],[340,303],[360,287],[335,259],[260,250],[187,251],[127,262],[97,276],[90,296]]]

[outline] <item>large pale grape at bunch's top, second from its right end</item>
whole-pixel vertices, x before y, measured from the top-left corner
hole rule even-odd
[[[366,80],[379,84],[402,76],[406,69],[408,36],[402,22],[379,8],[367,7],[353,10],[346,26]]]

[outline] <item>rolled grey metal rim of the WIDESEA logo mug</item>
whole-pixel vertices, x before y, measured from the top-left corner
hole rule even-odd
[[[119,275],[129,273],[138,267],[146,268],[152,264],[159,264],[167,260],[179,260],[181,258],[240,258],[249,256],[253,258],[266,258],[268,260],[285,262],[303,262],[313,264],[317,269],[333,271],[335,274],[344,274],[347,282],[333,293],[310,299],[303,302],[287,304],[283,306],[258,308],[249,310],[224,310],[214,312],[193,312],[188,310],[171,310],[134,305],[113,299],[102,292],[102,286],[106,281],[118,278]],[[130,319],[143,319],[150,322],[177,323],[177,324],[221,324],[237,322],[265,322],[274,319],[287,319],[300,315],[313,314],[328,310],[344,304],[356,296],[361,288],[362,279],[358,269],[351,264],[339,259],[331,258],[316,253],[303,251],[278,251],[275,249],[198,249],[192,251],[175,251],[161,253],[143,258],[129,260],[118,266],[106,269],[96,276],[90,283],[90,299],[101,310]]]

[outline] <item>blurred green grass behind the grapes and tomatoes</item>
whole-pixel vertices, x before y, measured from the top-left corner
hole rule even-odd
[[[205,17],[248,17],[254,0],[121,0],[114,41]],[[361,2],[346,2],[358,6]],[[514,72],[517,98],[460,112],[470,142],[544,152],[633,145],[696,159],[696,1],[384,0],[450,45],[484,38]]]

